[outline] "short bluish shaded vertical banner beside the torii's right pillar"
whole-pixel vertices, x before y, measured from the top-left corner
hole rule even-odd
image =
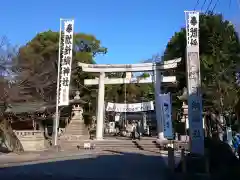
[[[163,133],[164,137],[167,139],[173,139],[173,128],[172,128],[172,103],[171,95],[160,94],[160,102],[162,107],[162,117],[163,117]]]

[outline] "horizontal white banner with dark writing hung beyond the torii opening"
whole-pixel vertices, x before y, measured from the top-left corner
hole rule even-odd
[[[141,112],[154,110],[153,101],[132,103],[132,104],[121,104],[121,103],[107,103],[106,111],[114,112]]]

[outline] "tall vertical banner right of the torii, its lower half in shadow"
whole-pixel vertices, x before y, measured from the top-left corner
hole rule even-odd
[[[204,154],[202,97],[199,60],[199,12],[185,12],[187,37],[188,118],[190,151]]]

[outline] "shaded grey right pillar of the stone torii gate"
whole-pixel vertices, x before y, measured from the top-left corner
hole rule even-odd
[[[154,88],[155,88],[155,112],[157,120],[157,134],[159,140],[164,140],[162,111],[159,94],[161,94],[161,71],[154,71]]]

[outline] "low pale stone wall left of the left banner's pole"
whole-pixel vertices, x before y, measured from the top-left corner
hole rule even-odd
[[[44,131],[41,130],[17,130],[14,131],[24,151],[42,151],[46,149]]]

